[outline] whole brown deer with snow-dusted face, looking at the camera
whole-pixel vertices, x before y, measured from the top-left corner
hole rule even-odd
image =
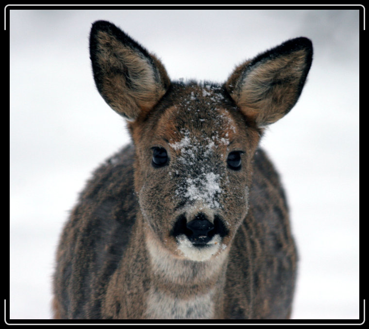
[[[280,174],[259,146],[313,56],[289,39],[223,84],[171,81],[158,57],[92,24],[96,88],[132,142],[93,173],[56,251],[54,319],[289,319],[298,254]]]

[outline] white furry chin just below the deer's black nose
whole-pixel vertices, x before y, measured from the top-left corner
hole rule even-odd
[[[178,249],[191,261],[203,262],[209,260],[220,248],[224,250],[227,246],[221,244],[221,237],[215,234],[204,247],[194,246],[185,234],[177,236]]]

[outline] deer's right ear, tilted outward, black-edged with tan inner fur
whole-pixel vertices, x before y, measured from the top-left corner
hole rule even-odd
[[[296,104],[312,55],[309,39],[286,41],[236,67],[225,87],[244,115],[259,127],[268,125]]]

